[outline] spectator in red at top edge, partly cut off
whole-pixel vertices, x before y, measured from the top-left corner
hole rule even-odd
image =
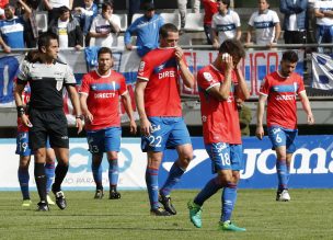
[[[204,30],[207,37],[207,43],[211,45],[211,19],[213,15],[218,12],[218,0],[202,0],[202,3],[205,9]]]

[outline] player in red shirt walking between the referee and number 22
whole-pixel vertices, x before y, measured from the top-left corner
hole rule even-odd
[[[92,155],[92,173],[96,184],[95,199],[103,198],[102,159],[106,152],[108,161],[110,199],[120,198],[118,184],[118,151],[120,150],[119,96],[129,117],[130,133],[137,125],[123,75],[112,70],[113,57],[107,47],[97,53],[97,70],[83,76],[80,90],[80,103],[85,117],[85,130],[89,151]]]

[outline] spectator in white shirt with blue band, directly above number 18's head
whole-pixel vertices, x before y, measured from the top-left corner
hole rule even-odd
[[[239,14],[229,7],[230,0],[219,1],[219,12],[213,16],[211,38],[216,49],[219,49],[226,39],[239,41],[242,35]]]

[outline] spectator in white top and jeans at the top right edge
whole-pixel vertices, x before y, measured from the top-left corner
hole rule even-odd
[[[315,1],[314,15],[317,18],[315,39],[318,44],[333,43],[333,1]],[[318,47],[323,53],[323,47]]]

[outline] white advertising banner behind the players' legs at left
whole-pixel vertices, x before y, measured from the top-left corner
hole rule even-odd
[[[15,139],[0,139],[0,190],[19,190],[19,156],[15,155]],[[30,165],[30,187],[35,188],[34,160]],[[147,156],[141,151],[140,138],[123,138],[119,152],[118,187],[125,190],[146,188],[145,173]],[[108,163],[104,155],[103,185],[108,187]],[[64,188],[94,188],[91,172],[91,155],[85,138],[70,139],[69,171],[62,184]]]

